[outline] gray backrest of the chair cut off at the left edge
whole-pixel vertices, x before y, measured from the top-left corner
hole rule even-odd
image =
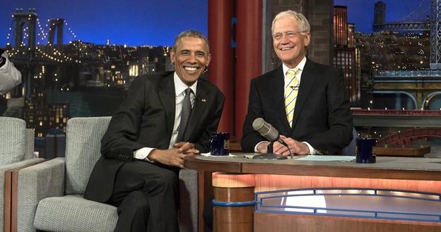
[[[20,118],[0,117],[0,165],[25,159],[26,122]]]

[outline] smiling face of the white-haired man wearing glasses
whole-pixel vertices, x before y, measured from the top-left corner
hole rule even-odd
[[[288,68],[295,68],[306,55],[306,47],[310,44],[310,32],[301,32],[297,20],[292,16],[285,16],[274,22],[273,35],[278,34],[282,36],[273,36],[274,51]]]

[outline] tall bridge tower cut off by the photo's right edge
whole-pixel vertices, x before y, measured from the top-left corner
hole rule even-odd
[[[441,0],[432,0],[430,18],[430,69],[441,70]]]

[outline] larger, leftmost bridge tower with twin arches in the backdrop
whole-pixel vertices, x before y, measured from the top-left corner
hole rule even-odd
[[[37,29],[37,13],[35,8],[29,8],[29,12],[23,12],[23,8],[16,9],[13,13],[13,20],[15,25],[15,36],[13,46],[18,47],[23,43],[23,28],[28,25],[28,30],[25,30],[28,37],[28,46],[35,48],[35,32]]]

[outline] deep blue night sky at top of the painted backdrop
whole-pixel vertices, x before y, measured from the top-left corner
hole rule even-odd
[[[374,4],[377,0],[335,0],[348,6],[348,23],[361,32],[372,32]],[[430,0],[384,0],[386,20],[396,21]],[[182,30],[208,33],[208,0],[2,0],[0,3],[0,47],[16,8],[35,8],[42,27],[49,18],[64,18],[83,42],[128,45],[172,45]],[[65,28],[65,38],[72,37]]]

